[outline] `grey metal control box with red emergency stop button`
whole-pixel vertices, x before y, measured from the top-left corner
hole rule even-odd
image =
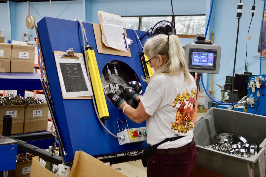
[[[117,136],[122,137],[118,139],[120,145],[139,143],[147,140],[147,131],[146,127],[124,129],[122,132],[117,133]]]

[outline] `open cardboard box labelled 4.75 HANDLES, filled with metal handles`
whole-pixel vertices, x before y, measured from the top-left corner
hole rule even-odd
[[[23,133],[47,130],[48,105],[27,104],[25,105]]]

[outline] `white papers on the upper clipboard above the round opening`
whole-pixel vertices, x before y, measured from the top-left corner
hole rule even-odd
[[[128,51],[125,41],[122,18],[107,12],[98,11],[102,29],[102,42],[107,46],[120,51]]]

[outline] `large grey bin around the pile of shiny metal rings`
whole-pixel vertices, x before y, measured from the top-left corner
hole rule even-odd
[[[258,154],[248,158],[206,149],[216,134],[233,133],[248,143],[256,143]],[[265,176],[266,117],[212,107],[195,123],[194,139],[198,151],[196,166],[226,176]]]

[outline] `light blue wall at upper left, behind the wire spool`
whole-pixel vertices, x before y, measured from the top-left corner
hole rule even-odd
[[[85,2],[85,1],[84,1]],[[3,4],[3,5],[2,5]],[[8,3],[1,3],[2,6],[7,6]],[[10,17],[11,17],[11,39],[19,41],[22,39],[23,34],[26,33],[26,17],[27,17],[27,2],[9,2]],[[30,15],[33,15],[36,23],[45,16],[49,16],[50,2],[30,2]],[[8,15],[8,11],[0,11],[0,16]],[[62,18],[67,20],[85,20],[85,13],[83,12],[83,1],[62,1],[51,2],[50,17]],[[2,19],[1,19],[2,20]],[[0,21],[1,22],[1,21]],[[3,23],[4,26],[8,23]],[[8,27],[8,26],[7,26]],[[1,27],[2,28],[2,25]],[[6,27],[5,27],[6,28]],[[34,41],[36,37],[35,28],[29,29],[29,34],[33,35],[29,38],[30,41]]]

